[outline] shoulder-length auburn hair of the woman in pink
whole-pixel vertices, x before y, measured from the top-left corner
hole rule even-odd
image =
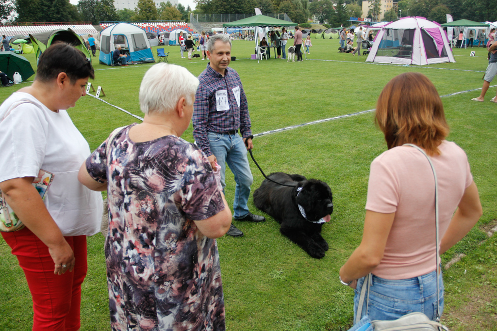
[[[438,145],[449,134],[435,86],[417,72],[400,74],[387,83],[376,104],[375,122],[388,149],[413,143],[429,155],[438,155]]]

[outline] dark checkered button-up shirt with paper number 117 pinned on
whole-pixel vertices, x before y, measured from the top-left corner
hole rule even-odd
[[[240,129],[242,137],[247,138],[250,130],[250,117],[248,116],[248,103],[242,81],[238,73],[227,67],[225,76],[214,70],[209,64],[198,76],[200,84],[195,94],[193,104],[193,138],[205,155],[212,155],[207,131],[224,133]],[[240,86],[240,107],[233,94],[233,89]],[[216,91],[228,91],[229,110],[217,111]]]

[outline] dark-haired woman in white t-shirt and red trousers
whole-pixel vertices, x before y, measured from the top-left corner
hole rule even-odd
[[[0,190],[25,225],[1,235],[24,270],[33,330],[81,327],[86,236],[99,231],[103,208],[101,195],[78,182],[90,149],[66,109],[85,95],[89,77],[83,53],[58,43],[40,56],[33,84],[0,106]],[[54,174],[44,200],[31,185],[40,169]]]

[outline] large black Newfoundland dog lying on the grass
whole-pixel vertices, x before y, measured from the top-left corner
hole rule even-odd
[[[321,236],[323,223],[333,212],[331,189],[325,182],[301,175],[275,172],[268,176],[253,193],[255,206],[280,223],[280,232],[299,245],[310,256],[321,259],[328,243]]]

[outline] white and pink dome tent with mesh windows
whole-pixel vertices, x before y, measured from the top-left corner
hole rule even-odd
[[[423,66],[456,61],[440,24],[403,17],[378,31],[366,62]]]

